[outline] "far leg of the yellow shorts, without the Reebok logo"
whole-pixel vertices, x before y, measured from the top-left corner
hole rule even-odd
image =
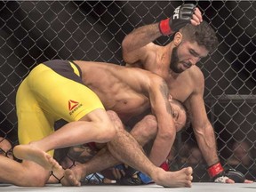
[[[27,79],[20,84],[17,92],[16,110],[20,144],[41,140],[53,132],[54,119],[40,107],[36,95],[28,87]]]

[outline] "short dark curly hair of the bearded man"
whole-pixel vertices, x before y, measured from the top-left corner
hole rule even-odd
[[[219,44],[215,31],[204,20],[197,26],[187,24],[184,28],[180,28],[180,33],[188,41],[203,45],[209,52],[217,49]]]

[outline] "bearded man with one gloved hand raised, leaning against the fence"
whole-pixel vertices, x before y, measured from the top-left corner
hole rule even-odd
[[[156,38],[171,34],[173,39],[169,44],[153,43]],[[171,18],[136,28],[122,42],[126,66],[144,68],[162,76],[172,97],[188,108],[196,140],[209,165],[208,173],[212,180],[234,183],[224,172],[217,155],[214,130],[204,107],[204,75],[196,66],[217,46],[215,31],[203,20],[202,13],[194,4],[181,4]]]

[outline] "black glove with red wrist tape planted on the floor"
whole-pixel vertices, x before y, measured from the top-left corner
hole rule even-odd
[[[244,174],[238,172],[235,169],[228,169],[226,172],[220,163],[213,164],[208,168],[208,173],[214,182],[225,183],[229,178],[234,180],[236,183],[244,183]]]

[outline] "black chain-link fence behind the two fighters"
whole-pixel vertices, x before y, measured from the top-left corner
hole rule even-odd
[[[15,95],[37,63],[100,60],[123,65],[124,36],[169,17],[186,1],[2,1],[0,2],[0,136],[17,141]],[[256,2],[189,1],[217,31],[220,46],[198,63],[205,77],[204,99],[216,132],[220,160],[254,180],[256,138]],[[156,44],[166,44],[162,36]],[[192,129],[178,135],[172,170],[195,167],[209,180]],[[179,148],[179,150],[178,150]]]

